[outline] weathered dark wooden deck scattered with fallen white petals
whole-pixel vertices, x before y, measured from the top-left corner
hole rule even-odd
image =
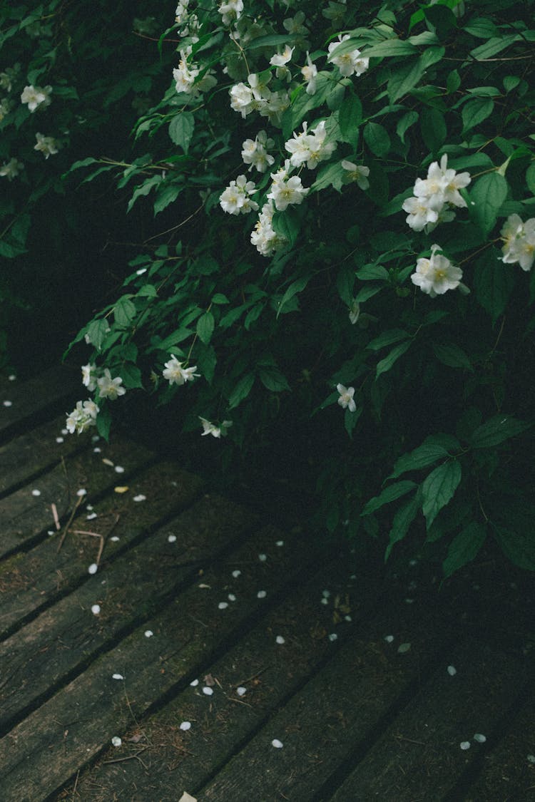
[[[383,585],[124,435],[62,434],[78,379],[0,379],[2,802],[535,800],[530,577]]]

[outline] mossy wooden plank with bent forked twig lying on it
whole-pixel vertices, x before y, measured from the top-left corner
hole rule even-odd
[[[87,509],[81,508],[71,529],[106,537],[103,562],[109,564],[191,504],[202,487],[198,476],[180,470],[174,462],[151,465],[129,481],[128,492],[111,492],[96,503],[91,512],[97,513],[95,519],[87,520]],[[140,496],[145,500],[134,501]],[[107,537],[110,533],[113,540]],[[8,557],[0,566],[0,637],[5,638],[87,579],[87,568],[99,553],[99,539],[69,533],[58,553],[59,537],[47,537],[29,552]]]

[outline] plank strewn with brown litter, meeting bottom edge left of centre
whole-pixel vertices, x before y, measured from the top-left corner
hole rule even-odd
[[[193,792],[201,788],[330,660],[338,642],[351,638],[358,623],[370,618],[381,592],[380,582],[375,573],[360,571],[358,581],[351,580],[350,566],[344,553],[320,564],[305,583],[295,583],[236,646],[203,670],[216,681],[209,705],[199,687],[188,686],[156,714],[133,724],[122,734],[120,750],[110,747],[95,767],[79,776],[79,798],[101,802],[115,794],[130,802],[174,800],[178,789]],[[245,576],[238,577],[229,582],[229,589],[241,596],[244,581]],[[331,593],[325,605],[323,589]],[[347,603],[351,622],[344,618],[349,614]],[[337,642],[330,642],[328,634],[332,633],[338,634]],[[278,643],[278,637],[284,638],[284,643]],[[245,687],[245,695],[238,695],[237,687]],[[184,720],[192,723],[188,731],[180,730]],[[143,763],[134,757],[140,750]],[[71,784],[57,798],[73,797]],[[264,799],[261,781],[254,799]]]

